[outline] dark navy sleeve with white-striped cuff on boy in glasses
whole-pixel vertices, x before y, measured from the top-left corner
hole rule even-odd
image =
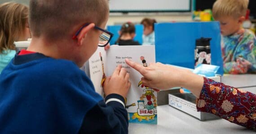
[[[110,99],[122,100],[118,94],[106,96]],[[128,113],[124,105],[118,101],[105,103],[101,100],[84,117],[79,134],[128,134]]]

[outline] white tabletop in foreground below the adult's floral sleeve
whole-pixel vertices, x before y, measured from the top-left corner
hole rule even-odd
[[[158,106],[158,125],[129,124],[129,134],[256,134],[224,119],[199,121],[169,105]]]

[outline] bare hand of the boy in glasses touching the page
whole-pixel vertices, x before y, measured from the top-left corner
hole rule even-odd
[[[129,74],[126,72],[125,68],[122,68],[122,65],[119,65],[116,67],[113,75],[105,80],[103,88],[106,96],[111,93],[116,93],[125,98],[130,86]]]

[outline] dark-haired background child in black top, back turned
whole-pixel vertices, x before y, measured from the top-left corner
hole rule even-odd
[[[126,45],[141,45],[139,42],[134,41],[135,37],[135,26],[132,22],[126,22],[122,25],[119,31],[119,38],[115,42],[116,45],[126,46]]]

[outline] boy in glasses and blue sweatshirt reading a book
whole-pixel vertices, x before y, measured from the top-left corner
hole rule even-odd
[[[127,134],[131,83],[118,66],[105,100],[79,69],[112,34],[107,0],[31,0],[32,40],[0,75],[0,134]]]

